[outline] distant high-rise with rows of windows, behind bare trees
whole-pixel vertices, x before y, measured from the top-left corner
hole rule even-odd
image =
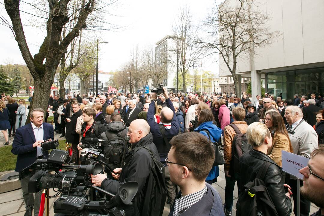
[[[155,61],[157,66],[163,67],[163,70],[167,72],[167,75],[162,78],[161,84],[166,86],[169,90],[175,91],[176,86],[173,85],[173,79],[176,76],[176,66],[172,65],[171,59],[176,61],[176,52],[170,50],[176,50],[176,44],[174,36],[167,35],[156,43],[155,47]],[[179,75],[179,74],[178,74]],[[154,86],[155,87],[155,86]],[[179,86],[180,88],[180,86]]]

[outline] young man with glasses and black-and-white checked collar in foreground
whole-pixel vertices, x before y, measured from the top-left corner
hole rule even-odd
[[[171,149],[165,162],[170,179],[179,186],[180,192],[173,202],[169,216],[224,216],[219,193],[205,182],[215,158],[210,141],[200,133],[190,132],[173,137],[170,144]]]

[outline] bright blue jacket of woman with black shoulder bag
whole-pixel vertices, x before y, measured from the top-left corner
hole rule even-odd
[[[206,121],[206,122],[202,123],[201,125],[199,125],[199,127],[197,127],[195,130],[193,130],[193,131],[199,132],[199,133],[203,134],[204,136],[208,137],[208,134],[202,130],[207,130],[209,132],[209,134],[211,136],[210,137],[211,142],[218,142],[219,139],[221,138],[222,129],[220,129],[216,125],[214,125],[212,121]],[[219,176],[218,166],[213,166],[212,169],[210,170],[206,180],[207,181],[213,180],[217,176]]]

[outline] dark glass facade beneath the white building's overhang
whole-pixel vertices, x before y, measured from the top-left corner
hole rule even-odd
[[[267,77],[267,91],[275,97],[282,93],[283,98],[293,99],[295,94],[310,98],[312,93],[324,93],[324,67],[268,73]]]

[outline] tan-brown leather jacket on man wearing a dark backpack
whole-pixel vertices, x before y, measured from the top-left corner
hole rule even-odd
[[[248,124],[245,121],[233,121],[232,124],[235,124],[238,129],[245,133],[248,129]],[[229,170],[231,159],[232,159],[232,142],[233,138],[236,135],[234,129],[227,125],[224,128],[224,169]]]

